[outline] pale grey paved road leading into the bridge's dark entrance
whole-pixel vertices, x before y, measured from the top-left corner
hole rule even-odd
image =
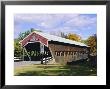
[[[31,64],[41,64],[41,61],[20,61],[14,62],[14,67],[26,66]]]

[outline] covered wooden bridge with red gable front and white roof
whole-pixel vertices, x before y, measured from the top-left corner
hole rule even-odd
[[[43,32],[32,32],[20,41],[23,47],[24,61],[54,60],[57,63],[67,63],[88,58],[88,46],[50,35]]]

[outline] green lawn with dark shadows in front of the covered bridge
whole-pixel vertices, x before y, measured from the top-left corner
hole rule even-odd
[[[97,70],[87,63],[74,65],[28,65],[14,69],[15,76],[96,76]]]

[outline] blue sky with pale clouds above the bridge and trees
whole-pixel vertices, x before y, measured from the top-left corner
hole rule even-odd
[[[31,28],[60,35],[78,34],[82,39],[97,33],[96,14],[15,14],[14,38]]]

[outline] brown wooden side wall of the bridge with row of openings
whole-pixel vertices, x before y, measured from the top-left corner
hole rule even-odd
[[[81,47],[49,44],[49,48],[57,63],[67,63],[88,58],[88,49]]]

